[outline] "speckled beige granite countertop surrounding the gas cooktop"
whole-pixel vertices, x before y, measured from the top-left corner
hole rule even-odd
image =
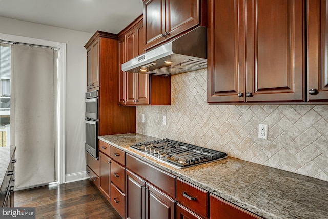
[[[261,217],[328,218],[327,181],[233,157],[177,169],[129,147],[157,138],[142,134],[98,138]]]

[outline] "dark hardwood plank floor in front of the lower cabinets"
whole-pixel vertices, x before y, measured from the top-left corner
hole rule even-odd
[[[15,191],[15,207],[35,207],[36,218],[121,218],[91,180]]]

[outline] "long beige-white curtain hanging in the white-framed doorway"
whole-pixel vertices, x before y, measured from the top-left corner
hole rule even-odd
[[[56,181],[58,51],[12,46],[10,140],[16,145],[15,187]]]

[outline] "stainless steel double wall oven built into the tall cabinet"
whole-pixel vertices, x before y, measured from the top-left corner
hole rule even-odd
[[[98,91],[86,93],[86,151],[98,159]]]

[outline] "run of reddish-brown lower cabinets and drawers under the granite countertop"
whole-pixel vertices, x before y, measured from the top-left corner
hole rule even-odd
[[[107,146],[110,156],[101,150],[99,160],[87,155],[87,173],[122,218],[261,218],[114,146]]]

